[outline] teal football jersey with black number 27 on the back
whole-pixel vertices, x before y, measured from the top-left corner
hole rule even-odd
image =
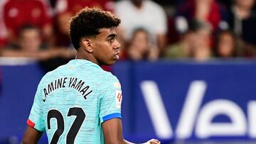
[[[38,84],[28,125],[49,143],[104,143],[101,123],[121,118],[122,90],[114,75],[87,60],[71,60]]]

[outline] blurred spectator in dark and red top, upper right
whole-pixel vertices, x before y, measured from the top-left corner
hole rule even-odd
[[[177,31],[186,31],[187,23],[182,23],[179,18],[186,18],[186,21],[196,19],[204,23],[210,23],[213,31],[218,30],[220,23],[226,19],[226,9],[215,0],[187,0],[176,11]],[[186,22],[185,21],[185,22]]]

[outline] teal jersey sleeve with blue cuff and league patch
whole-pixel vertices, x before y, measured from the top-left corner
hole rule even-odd
[[[117,77],[111,75],[102,83],[100,123],[121,116],[122,90]]]

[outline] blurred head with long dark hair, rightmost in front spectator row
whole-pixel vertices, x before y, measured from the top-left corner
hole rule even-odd
[[[238,57],[238,43],[233,31],[221,31],[215,41],[215,57]]]

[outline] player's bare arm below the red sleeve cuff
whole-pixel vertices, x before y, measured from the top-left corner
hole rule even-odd
[[[38,140],[41,138],[41,135],[41,131],[37,131],[35,128],[32,128],[31,126],[27,126],[26,131],[21,140],[21,144],[38,143]]]

